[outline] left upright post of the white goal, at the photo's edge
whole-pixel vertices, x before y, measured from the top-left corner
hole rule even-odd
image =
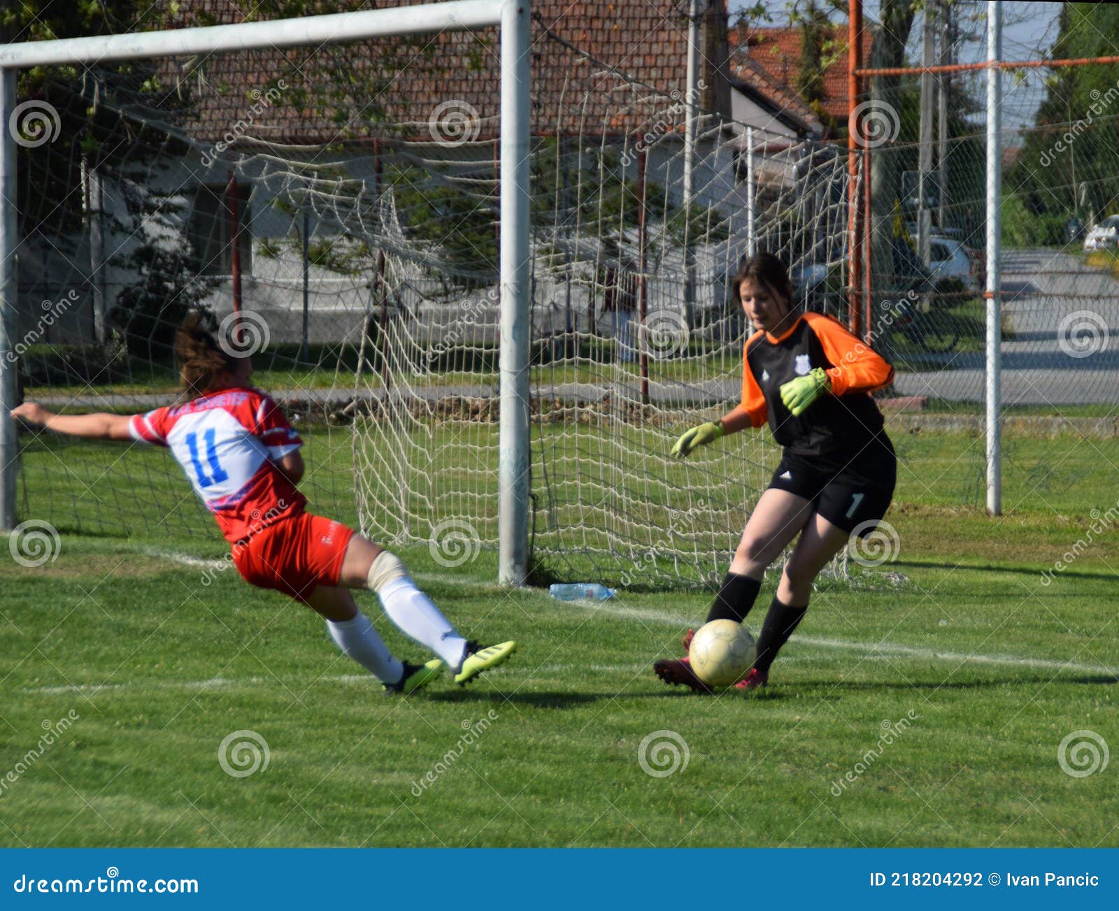
[[[0,69],[0,527],[16,527],[16,422],[8,416],[18,402],[16,376],[19,363],[15,341],[19,331],[16,288],[16,250],[19,223],[16,218],[16,138],[8,129],[16,107],[17,71]]]

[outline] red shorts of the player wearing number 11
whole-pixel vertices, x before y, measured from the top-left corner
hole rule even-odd
[[[338,584],[352,536],[340,522],[300,513],[233,545],[233,562],[248,584],[307,601],[316,585]]]

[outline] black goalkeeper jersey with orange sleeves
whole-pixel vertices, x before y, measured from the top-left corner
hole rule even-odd
[[[781,401],[781,386],[821,367],[831,394],[821,395],[800,417]],[[751,423],[769,421],[786,456],[819,469],[864,468],[873,478],[893,447],[883,430],[882,412],[871,393],[893,379],[893,368],[839,322],[803,313],[782,336],[756,331],[746,342],[742,406]]]

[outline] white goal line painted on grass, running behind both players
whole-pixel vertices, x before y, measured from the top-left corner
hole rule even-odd
[[[149,550],[148,553],[152,556],[162,556],[188,566],[205,565],[209,569],[216,569],[229,565],[222,560],[203,561],[197,557],[170,551]],[[421,582],[446,581],[446,576],[429,576],[422,573],[417,573],[416,579]],[[463,580],[461,583],[455,584],[495,590],[499,588],[490,582],[476,582],[473,580]],[[668,611],[638,610],[637,608],[614,607],[602,601],[557,601],[556,605],[581,608],[583,610],[596,611],[599,613],[606,614],[608,617],[638,620],[647,623],[660,623],[662,626],[681,627],[687,622],[684,618],[678,617],[675,613],[669,613]],[[922,658],[930,661],[956,661],[957,664],[1010,665],[1014,667],[1044,668],[1046,670],[1073,670],[1081,674],[1107,674],[1119,677],[1119,667],[1112,667],[1109,665],[1089,665],[1081,664],[1079,661],[1057,661],[1052,658],[1026,658],[1017,655],[980,655],[962,651],[939,651],[937,649],[903,646],[894,642],[852,642],[845,639],[825,639],[817,636],[798,636],[796,637],[796,640],[806,646],[816,646],[817,648],[835,648],[843,649],[845,651],[862,651],[864,655],[874,655],[883,658]]]

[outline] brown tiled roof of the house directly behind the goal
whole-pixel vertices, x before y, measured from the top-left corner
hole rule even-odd
[[[425,0],[372,6],[420,2]],[[232,0],[181,0],[181,9],[182,26],[245,18]],[[601,133],[604,128],[615,133],[648,130],[658,112],[685,91],[685,11],[674,0],[537,0],[532,26],[534,130],[563,134]],[[728,114],[727,78],[717,67],[718,48],[724,59],[726,54],[725,19],[713,11],[704,29],[699,75],[706,90],[699,103]],[[330,46],[313,53],[291,48],[211,55],[197,62],[187,76],[182,76],[181,62],[176,62],[164,77],[201,86],[191,130],[207,141],[220,138],[244,118],[251,98],[256,97],[252,92],[266,91],[285,74],[292,74],[288,78],[292,82],[294,66],[303,74],[295,79],[298,87],[289,88],[282,103],[254,112],[245,135],[276,143],[321,143],[384,134],[380,124],[385,122],[408,124],[406,134],[424,135],[433,110],[454,100],[477,112],[479,138],[492,138],[499,114],[498,64],[497,31],[483,29],[411,41]],[[347,81],[352,93],[345,91]],[[305,92],[307,85],[314,91]],[[370,85],[378,86],[374,98],[368,97]],[[649,87],[661,95],[657,97]],[[370,119],[370,113],[379,120]]]

